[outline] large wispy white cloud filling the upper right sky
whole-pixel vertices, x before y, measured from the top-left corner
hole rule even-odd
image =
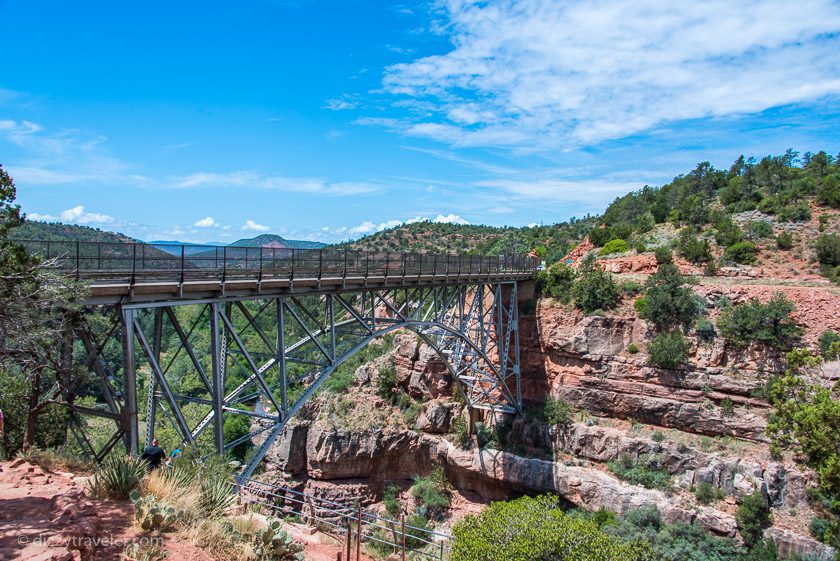
[[[840,94],[832,0],[447,0],[453,49],[389,67],[399,121],[459,146],[572,148]],[[437,108],[410,109],[415,103]]]

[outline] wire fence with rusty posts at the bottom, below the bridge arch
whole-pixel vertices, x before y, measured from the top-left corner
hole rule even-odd
[[[362,508],[358,499],[340,503],[253,479],[242,484],[240,495],[246,504],[259,505],[280,518],[299,519],[342,539],[347,561],[361,561],[363,544],[390,550],[402,560],[450,557],[448,534],[407,524],[404,514],[400,520],[379,516]]]

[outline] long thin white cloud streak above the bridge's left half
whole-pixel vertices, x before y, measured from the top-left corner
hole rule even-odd
[[[190,175],[171,177],[169,186],[177,189],[198,189],[206,187],[242,187],[280,190],[295,193],[315,193],[335,196],[351,196],[373,193],[376,187],[367,183],[328,182],[317,178],[291,178],[266,175],[255,171],[234,171],[227,173],[196,172]]]

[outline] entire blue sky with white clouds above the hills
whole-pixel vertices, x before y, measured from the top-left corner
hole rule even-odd
[[[0,0],[31,217],[144,240],[553,223],[840,151],[840,2]]]

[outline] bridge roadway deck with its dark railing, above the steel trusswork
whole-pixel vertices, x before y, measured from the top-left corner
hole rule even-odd
[[[150,304],[363,287],[525,280],[523,256],[361,252],[345,249],[26,240],[30,253],[90,284],[91,304]]]

